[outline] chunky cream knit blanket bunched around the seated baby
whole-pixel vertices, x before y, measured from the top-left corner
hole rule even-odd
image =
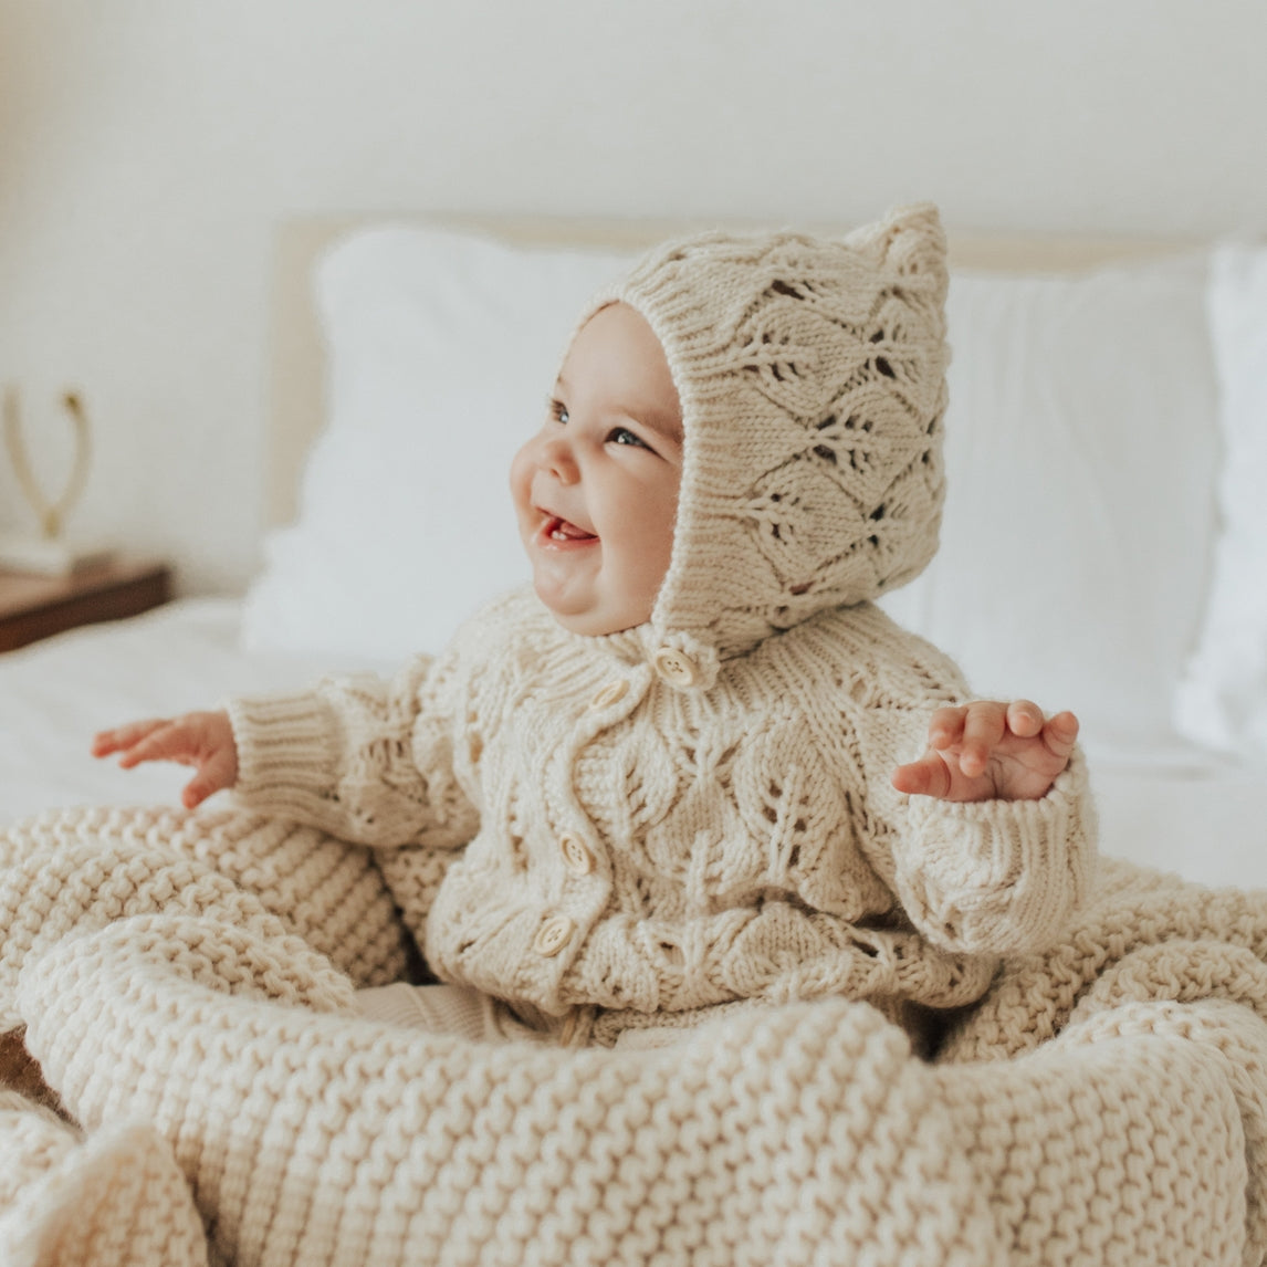
[[[234,811],[0,832],[20,1264],[1259,1263],[1267,895],[1106,863],[935,1063],[864,1003],[651,1050],[361,1017],[408,943],[366,850]]]

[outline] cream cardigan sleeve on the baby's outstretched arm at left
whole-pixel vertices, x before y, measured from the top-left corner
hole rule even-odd
[[[359,674],[234,699],[234,793],[357,844],[464,845],[479,815],[454,769],[457,694],[452,664],[419,656],[390,682]]]

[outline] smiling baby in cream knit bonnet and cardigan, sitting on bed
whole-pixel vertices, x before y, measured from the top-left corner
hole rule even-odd
[[[1095,848],[1072,713],[968,702],[872,603],[936,549],[945,290],[927,205],[660,247],[584,314],[514,459],[531,590],[390,687],[94,751],[376,848],[502,1034],[637,1045],[830,995],[915,1031],[974,1001],[1055,940]]]

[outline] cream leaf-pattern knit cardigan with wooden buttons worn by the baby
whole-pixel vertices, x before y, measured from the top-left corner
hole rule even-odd
[[[893,791],[965,694],[934,647],[864,603],[707,682],[655,650],[512,594],[390,688],[234,702],[238,797],[418,846],[384,869],[433,972],[568,1041],[742,1000],[960,1006],[1055,940],[1093,865],[1082,760],[1040,801]]]

